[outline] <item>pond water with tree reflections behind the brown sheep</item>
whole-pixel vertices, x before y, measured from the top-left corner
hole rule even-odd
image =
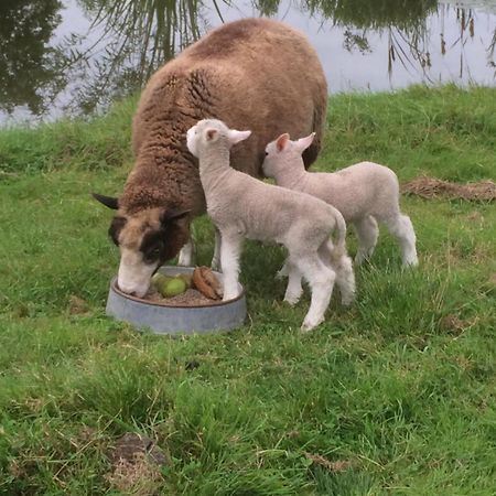
[[[496,82],[496,0],[3,0],[0,125],[105,111],[209,29],[259,15],[306,33],[331,93]]]

